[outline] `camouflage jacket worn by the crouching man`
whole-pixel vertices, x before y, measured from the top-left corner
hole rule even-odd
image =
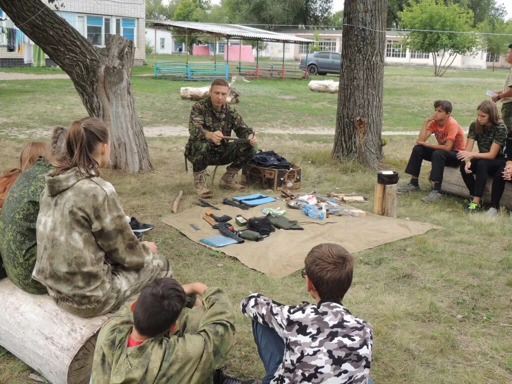
[[[254,131],[245,124],[236,109],[231,109],[229,104],[224,104],[219,112],[208,97],[194,104],[190,111],[189,142],[204,140],[206,132],[215,131],[222,131],[224,136],[231,136],[231,131],[233,131],[241,139],[247,139],[249,135],[254,134]]]

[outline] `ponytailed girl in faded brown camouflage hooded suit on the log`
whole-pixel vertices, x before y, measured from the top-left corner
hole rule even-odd
[[[32,277],[66,311],[98,316],[172,272],[155,243],[137,240],[114,187],[99,177],[110,161],[106,124],[71,123],[66,152],[41,194]]]

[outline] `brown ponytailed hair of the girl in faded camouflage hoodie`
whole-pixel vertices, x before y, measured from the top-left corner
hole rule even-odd
[[[66,135],[66,152],[68,159],[63,159],[62,165],[54,170],[52,176],[77,167],[83,176],[98,176],[98,162],[93,153],[96,146],[109,142],[109,129],[103,120],[96,117],[86,117],[71,123]]]

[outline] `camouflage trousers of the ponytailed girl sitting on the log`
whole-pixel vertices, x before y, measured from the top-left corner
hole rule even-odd
[[[173,271],[165,256],[154,254],[149,264],[142,269],[128,269],[112,266],[112,289],[94,308],[76,308],[56,300],[57,305],[66,312],[80,317],[99,316],[118,309],[142,288],[157,278],[172,278]]]

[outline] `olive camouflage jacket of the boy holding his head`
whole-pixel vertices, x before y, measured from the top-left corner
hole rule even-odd
[[[133,329],[130,305],[124,304],[98,334],[93,384],[213,382],[214,369],[225,359],[234,340],[234,314],[223,290],[208,288],[203,306],[180,318],[174,334],[148,338],[128,348]],[[187,318],[189,324],[184,320]]]

